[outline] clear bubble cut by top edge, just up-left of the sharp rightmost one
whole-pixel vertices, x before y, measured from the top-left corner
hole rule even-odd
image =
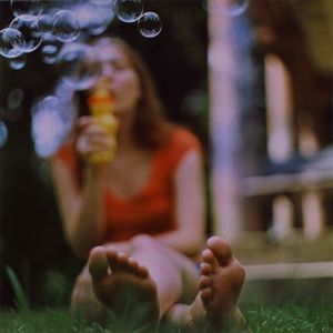
[[[143,12],[141,0],[115,0],[114,13],[123,22],[131,23],[139,20]]]

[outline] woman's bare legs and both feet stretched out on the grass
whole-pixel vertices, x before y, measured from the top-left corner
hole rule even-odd
[[[123,313],[131,303],[127,291],[135,290],[138,300],[150,304],[142,323],[155,317],[157,324],[165,317],[194,327],[202,322],[222,327],[229,320],[243,324],[236,300],[244,271],[224,240],[214,236],[208,241],[199,280],[189,259],[149,236],[133,239],[130,248],[131,256],[113,246],[98,246],[90,255],[94,292],[113,312]],[[185,294],[193,300],[195,293],[192,304],[180,303]]]

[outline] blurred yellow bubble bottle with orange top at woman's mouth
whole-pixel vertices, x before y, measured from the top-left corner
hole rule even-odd
[[[114,97],[108,89],[100,85],[88,98],[88,107],[90,113],[97,119],[98,124],[107,129],[112,145],[110,150],[103,152],[95,152],[89,155],[89,161],[92,163],[105,163],[112,161],[117,150],[117,130],[118,120],[113,115]]]

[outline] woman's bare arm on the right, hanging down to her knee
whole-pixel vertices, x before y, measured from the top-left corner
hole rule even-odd
[[[203,165],[199,151],[189,152],[174,175],[175,221],[178,229],[155,236],[168,246],[195,255],[205,239]]]

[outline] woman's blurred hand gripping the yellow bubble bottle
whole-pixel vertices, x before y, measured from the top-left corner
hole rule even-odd
[[[115,139],[110,138],[105,128],[100,125],[92,115],[81,117],[77,125],[75,149],[81,159],[88,164],[89,157],[94,153],[103,153],[113,149]]]

